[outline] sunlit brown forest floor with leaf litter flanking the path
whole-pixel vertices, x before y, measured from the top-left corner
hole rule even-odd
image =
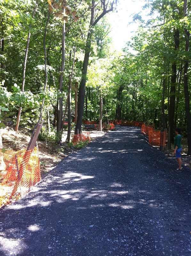
[[[2,129],[3,148],[19,151],[20,149],[27,147],[31,133],[32,130],[27,129],[26,127],[21,127],[18,134],[15,134],[14,127],[6,127],[5,129]],[[95,134],[92,132],[91,136],[93,137],[94,135]],[[104,132],[99,134],[99,136],[102,135],[104,135]],[[187,138],[182,138],[181,144],[182,163],[191,169],[191,156],[187,155]],[[62,143],[62,146],[60,147],[55,142],[48,140],[38,140],[38,148],[42,177],[46,176],[48,172],[50,172],[50,170],[52,170],[64,157],[67,157],[73,151],[78,150],[76,148],[69,148],[67,143]],[[171,149],[165,150],[164,154],[169,158],[173,158],[173,148],[174,145],[171,144]]]

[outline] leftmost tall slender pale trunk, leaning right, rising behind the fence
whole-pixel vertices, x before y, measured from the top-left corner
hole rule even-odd
[[[36,8],[38,6],[38,2],[39,2],[39,0],[36,1],[36,5],[35,5],[35,9],[33,11],[32,19],[34,19]],[[25,51],[25,58],[24,58],[24,65],[23,65],[22,87],[21,87],[22,92],[24,92],[24,86],[25,86],[25,72],[26,72],[26,65],[27,65],[28,45],[29,45],[29,41],[30,41],[31,26],[32,26],[32,24],[30,23],[29,29],[28,29],[27,47],[26,47],[26,51]],[[15,132],[16,133],[18,132],[18,129],[19,129],[21,110],[22,110],[22,107],[19,107],[19,113],[18,113],[18,117],[17,117],[17,124],[16,124],[16,127],[15,127]]]

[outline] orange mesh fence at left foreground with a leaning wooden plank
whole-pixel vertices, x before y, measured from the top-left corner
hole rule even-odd
[[[0,207],[19,199],[41,181],[38,147],[26,151],[6,150],[1,154]],[[3,163],[3,164],[2,164]]]

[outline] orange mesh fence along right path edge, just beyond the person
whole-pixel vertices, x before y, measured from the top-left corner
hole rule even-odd
[[[146,126],[143,124],[141,132],[148,136],[151,146],[165,146],[167,143],[167,132],[155,131],[153,125]]]

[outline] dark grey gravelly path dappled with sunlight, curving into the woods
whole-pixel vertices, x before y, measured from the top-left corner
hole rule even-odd
[[[190,256],[191,171],[138,127],[94,140],[0,210],[0,255]]]

